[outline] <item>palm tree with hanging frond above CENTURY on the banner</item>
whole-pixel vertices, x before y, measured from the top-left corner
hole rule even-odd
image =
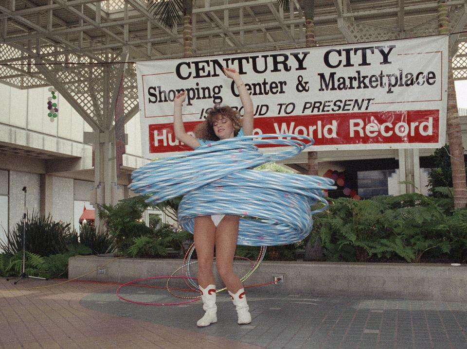
[[[193,0],[148,0],[147,10],[169,29],[177,26],[183,13],[183,57],[193,57]]]

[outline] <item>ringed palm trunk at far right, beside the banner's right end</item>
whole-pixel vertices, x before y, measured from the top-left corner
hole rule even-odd
[[[448,6],[446,0],[438,0],[439,34],[449,34]],[[449,52],[448,52],[449,54]],[[462,147],[462,131],[457,109],[452,59],[448,58],[448,111],[446,116],[449,149],[451,152],[452,184],[454,187],[454,208],[464,209],[467,205],[466,165]]]

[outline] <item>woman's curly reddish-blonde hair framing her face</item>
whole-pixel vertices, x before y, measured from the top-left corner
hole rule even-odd
[[[240,113],[234,108],[228,105],[214,105],[214,107],[208,111],[206,120],[198,124],[194,130],[195,137],[201,140],[219,140],[219,137],[214,133],[213,123],[219,116],[225,116],[234,126],[234,136],[238,134],[238,131],[242,128],[242,119]]]

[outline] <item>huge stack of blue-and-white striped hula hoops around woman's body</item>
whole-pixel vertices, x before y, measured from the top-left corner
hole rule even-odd
[[[261,145],[280,148],[260,152]],[[311,146],[305,136],[268,134],[208,143],[180,156],[150,162],[133,171],[129,188],[159,203],[184,195],[179,205],[181,226],[193,233],[197,216],[240,216],[239,245],[291,244],[306,238],[312,214],[326,209],[323,190],[334,181],[313,175],[251,170],[299,154]]]

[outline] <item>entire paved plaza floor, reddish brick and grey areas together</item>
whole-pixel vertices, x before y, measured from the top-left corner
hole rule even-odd
[[[16,287],[57,281],[25,280]],[[13,288],[0,281],[0,288]],[[253,321],[236,324],[218,295],[218,322],[198,329],[200,302],[143,306],[115,285],[71,282],[0,293],[1,348],[466,349],[467,303],[278,295],[248,289]],[[173,302],[166,291],[128,287],[123,295]]]

